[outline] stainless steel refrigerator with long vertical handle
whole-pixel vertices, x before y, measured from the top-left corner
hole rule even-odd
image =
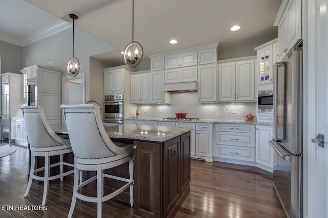
[[[302,217],[302,51],[274,68],[274,124],[270,146],[278,153],[273,186],[287,217]]]

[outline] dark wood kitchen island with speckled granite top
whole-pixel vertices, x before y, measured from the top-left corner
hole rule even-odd
[[[104,126],[112,141],[134,145],[133,216],[173,217],[190,191],[191,128],[134,124]],[[63,126],[52,128],[57,133],[67,134]],[[120,167],[110,173],[129,176],[128,171],[120,170]],[[115,187],[114,183],[107,185]],[[124,199],[121,196],[120,200]]]

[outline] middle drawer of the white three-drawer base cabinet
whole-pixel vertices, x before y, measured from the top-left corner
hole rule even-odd
[[[216,132],[216,143],[229,146],[255,147],[254,133]]]

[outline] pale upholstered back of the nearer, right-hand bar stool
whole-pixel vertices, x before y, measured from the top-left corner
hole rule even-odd
[[[116,146],[108,137],[96,104],[60,107],[64,109],[75,161],[87,164],[88,160],[94,162],[92,160],[113,157],[131,150],[130,147],[124,149]],[[84,134],[86,132],[88,134]]]

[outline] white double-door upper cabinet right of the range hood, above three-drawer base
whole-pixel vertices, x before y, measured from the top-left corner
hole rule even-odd
[[[231,60],[218,64],[218,101],[255,101],[254,57]]]

